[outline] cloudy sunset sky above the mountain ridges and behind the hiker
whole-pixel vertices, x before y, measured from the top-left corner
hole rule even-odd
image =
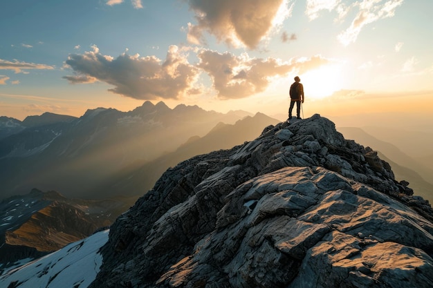
[[[432,0],[2,0],[0,115],[433,116]],[[426,116],[427,115],[427,116]]]

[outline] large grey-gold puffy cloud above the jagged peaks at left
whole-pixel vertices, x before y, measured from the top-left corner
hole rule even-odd
[[[199,69],[187,61],[187,50],[170,46],[165,61],[126,52],[116,59],[102,55],[98,47],[84,54],[71,54],[66,66],[75,75],[63,77],[73,84],[102,81],[109,91],[135,99],[178,99],[196,93]]]

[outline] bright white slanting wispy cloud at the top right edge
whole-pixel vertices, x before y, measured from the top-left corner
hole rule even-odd
[[[344,46],[354,43],[364,26],[379,19],[394,17],[396,8],[402,3],[403,0],[362,0],[356,2],[353,5],[358,6],[358,14],[353,19],[351,26],[338,35],[338,40]]]

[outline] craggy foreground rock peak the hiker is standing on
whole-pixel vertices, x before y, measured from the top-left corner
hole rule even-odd
[[[90,287],[433,287],[433,212],[314,115],[169,169]]]

